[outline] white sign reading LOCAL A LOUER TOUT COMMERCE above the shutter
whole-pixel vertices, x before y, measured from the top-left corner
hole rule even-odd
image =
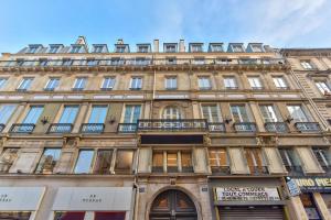
[[[276,187],[216,187],[218,201],[275,201],[280,200]]]

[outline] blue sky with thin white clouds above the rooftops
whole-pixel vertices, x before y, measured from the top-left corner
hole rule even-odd
[[[331,47],[331,0],[3,0],[0,52],[33,43],[263,42]]]

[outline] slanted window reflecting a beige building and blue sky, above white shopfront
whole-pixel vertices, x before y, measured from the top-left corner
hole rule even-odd
[[[52,174],[61,155],[61,148],[45,148],[35,173]]]

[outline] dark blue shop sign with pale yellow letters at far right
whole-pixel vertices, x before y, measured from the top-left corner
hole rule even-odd
[[[330,177],[298,177],[291,179],[296,182],[302,193],[331,193]]]

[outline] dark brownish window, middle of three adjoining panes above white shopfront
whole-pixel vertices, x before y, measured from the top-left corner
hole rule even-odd
[[[110,174],[113,150],[98,150],[94,165],[94,174]]]

